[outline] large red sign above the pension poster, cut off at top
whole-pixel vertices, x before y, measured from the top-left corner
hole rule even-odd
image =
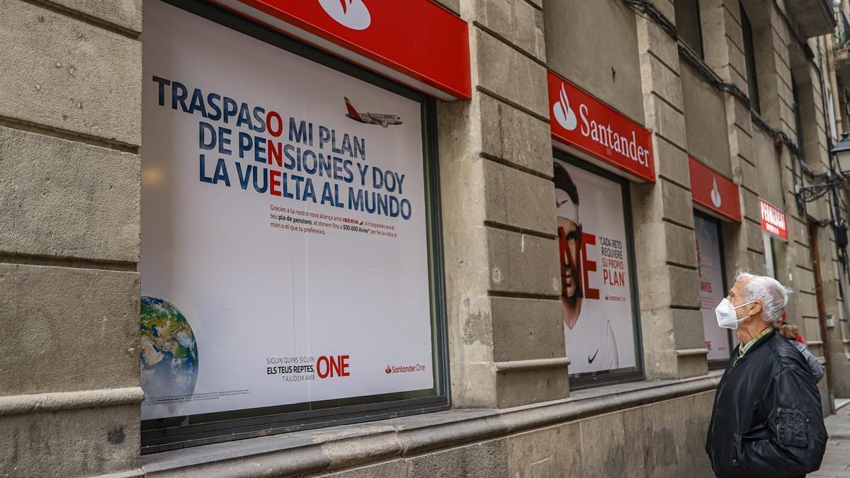
[[[441,100],[472,97],[467,22],[432,0],[212,0]]]

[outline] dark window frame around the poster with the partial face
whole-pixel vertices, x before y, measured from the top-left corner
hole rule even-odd
[[[638,270],[638,265],[635,259],[634,247],[634,227],[632,224],[632,196],[631,183],[628,179],[622,178],[616,174],[598,168],[581,158],[573,156],[568,152],[553,148],[553,156],[555,159],[566,162],[575,168],[580,168],[588,173],[595,174],[603,179],[609,179],[620,184],[621,193],[623,196],[623,219],[624,229],[626,230],[626,253],[628,254],[628,265],[631,274],[629,274],[629,291],[632,293],[632,327],[634,327],[634,343],[635,343],[635,367],[626,369],[606,370],[603,372],[586,372],[586,373],[570,373],[570,390],[585,390],[604,385],[611,384],[626,384],[629,382],[638,382],[646,378],[646,368],[643,366],[643,334],[641,333],[640,321],[640,298],[638,297],[638,278],[635,275]],[[553,185],[554,188],[554,185]],[[560,296],[558,296],[560,303]],[[563,320],[563,319],[562,319]],[[570,356],[570,350],[566,350],[567,357]],[[569,373],[569,368],[567,369]]]

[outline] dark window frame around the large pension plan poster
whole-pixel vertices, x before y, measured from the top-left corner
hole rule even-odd
[[[269,43],[305,60],[340,71],[354,79],[371,83],[390,93],[420,103],[434,372],[432,389],[141,420],[141,453],[163,452],[255,436],[276,435],[449,409],[449,350],[439,200],[436,101],[426,94],[365,70],[348,60],[314,48],[217,4],[203,0],[160,1],[202,19],[210,20],[222,28]]]

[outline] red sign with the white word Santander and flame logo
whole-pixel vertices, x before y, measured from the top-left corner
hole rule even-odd
[[[552,71],[549,113],[556,146],[631,179],[655,182],[652,132]]]

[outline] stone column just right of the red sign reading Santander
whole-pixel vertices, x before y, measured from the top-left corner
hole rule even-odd
[[[655,5],[675,19],[673,3]],[[653,131],[657,183],[632,185],[643,359],[649,378],[707,371],[700,315],[694,211],[690,198],[677,42],[638,16],[646,127]]]

